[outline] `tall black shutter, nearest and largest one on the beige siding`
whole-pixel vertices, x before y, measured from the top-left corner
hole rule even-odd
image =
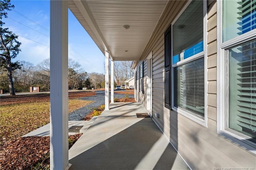
[[[164,33],[164,107],[172,109],[171,26]]]

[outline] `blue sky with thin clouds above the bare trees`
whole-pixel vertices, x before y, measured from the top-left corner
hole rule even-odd
[[[22,43],[20,46],[22,51],[13,61],[29,61],[36,66],[50,57],[50,2],[11,0],[11,3],[15,8],[8,12],[7,19],[3,19],[4,27],[17,34],[18,41]],[[68,10],[68,57],[78,61],[82,69],[88,73],[104,73],[103,53],[70,10]]]

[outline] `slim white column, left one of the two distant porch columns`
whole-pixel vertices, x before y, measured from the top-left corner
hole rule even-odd
[[[109,53],[105,51],[105,110],[109,110]]]

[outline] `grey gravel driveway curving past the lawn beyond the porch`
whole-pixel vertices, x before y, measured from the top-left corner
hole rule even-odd
[[[77,109],[76,111],[71,112],[68,115],[69,121],[81,121],[88,113],[90,113],[93,109],[105,104],[105,91],[95,91],[96,95],[90,97],[80,98],[86,101],[94,101],[85,107]],[[122,98],[124,94],[116,94],[114,93],[114,98]],[[129,95],[129,97],[134,97],[134,95]],[[110,94],[109,94],[110,99]]]

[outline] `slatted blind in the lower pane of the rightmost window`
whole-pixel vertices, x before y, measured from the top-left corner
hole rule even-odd
[[[256,40],[229,54],[230,128],[256,138]]]

